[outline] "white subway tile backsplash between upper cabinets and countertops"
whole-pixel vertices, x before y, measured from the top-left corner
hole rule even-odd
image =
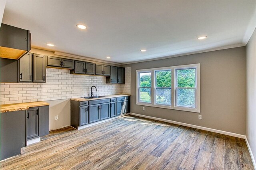
[[[90,95],[130,94],[130,67],[125,68],[125,84],[106,84],[106,77],[71,75],[69,70],[46,68],[46,83],[0,83],[0,103],[24,103],[69,99]]]

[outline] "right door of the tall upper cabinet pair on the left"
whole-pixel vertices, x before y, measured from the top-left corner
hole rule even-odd
[[[46,65],[44,55],[33,55],[33,82],[46,82]]]

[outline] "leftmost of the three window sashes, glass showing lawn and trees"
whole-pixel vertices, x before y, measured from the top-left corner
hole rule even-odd
[[[151,103],[151,72],[139,73],[139,101]]]

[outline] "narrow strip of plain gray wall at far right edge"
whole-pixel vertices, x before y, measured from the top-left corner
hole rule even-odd
[[[246,45],[246,137],[256,161],[256,30]]]

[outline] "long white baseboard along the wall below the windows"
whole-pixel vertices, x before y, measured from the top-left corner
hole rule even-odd
[[[217,129],[213,129],[213,128],[207,128],[207,127],[201,127],[201,126],[191,125],[191,124],[182,123],[182,122],[170,121],[170,120],[167,120],[167,119],[161,119],[161,118],[157,118],[157,117],[140,115],[140,114],[137,114],[137,113],[130,113],[130,115],[134,115],[134,116],[138,116],[138,117],[144,117],[144,118],[148,118],[148,119],[154,119],[154,120],[157,120],[157,121],[173,123],[173,124],[176,124],[176,125],[182,125],[182,126],[186,126],[186,127],[198,128],[198,129],[201,129],[201,130],[216,132],[216,133],[220,133],[220,134],[226,134],[226,135],[229,135],[229,136],[234,136],[234,137],[243,138],[243,139],[246,138],[246,136],[242,135],[242,134],[226,132],[226,131],[223,131],[223,130],[217,130]]]

